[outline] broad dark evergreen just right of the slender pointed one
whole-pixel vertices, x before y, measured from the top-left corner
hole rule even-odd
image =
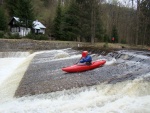
[[[74,0],[63,17],[63,39],[77,40],[79,37],[79,8]]]

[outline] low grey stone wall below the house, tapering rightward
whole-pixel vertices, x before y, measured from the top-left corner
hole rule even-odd
[[[31,39],[0,39],[0,51],[38,51],[87,46],[89,43]]]

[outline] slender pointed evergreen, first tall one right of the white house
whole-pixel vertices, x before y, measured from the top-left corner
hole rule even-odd
[[[61,30],[62,30],[62,9],[61,9],[61,2],[59,1],[59,4],[56,9],[56,16],[54,18],[54,25],[53,25],[53,35],[56,40],[61,39]]]

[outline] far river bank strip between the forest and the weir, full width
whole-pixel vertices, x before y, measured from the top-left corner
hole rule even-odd
[[[84,43],[73,41],[45,41],[45,40],[31,40],[31,39],[0,39],[0,51],[38,51],[38,50],[52,50],[52,49],[138,49],[148,50],[147,46],[131,46],[126,44],[113,43]]]

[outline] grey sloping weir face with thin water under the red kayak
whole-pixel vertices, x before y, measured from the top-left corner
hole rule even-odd
[[[141,55],[140,58],[134,57],[132,60],[128,60],[135,54],[132,51],[122,51],[121,55],[118,53],[119,57],[115,57],[117,62],[110,57],[110,54],[101,56],[101,59],[107,60],[106,65],[91,71],[82,73],[63,72],[61,70],[62,67],[72,65],[80,58],[80,53],[78,51],[76,52],[71,49],[53,50],[35,55],[15,92],[15,96],[20,97],[56,92],[84,86],[93,86],[104,82],[122,82],[125,80],[133,80],[142,74],[150,72],[149,67],[146,67],[148,65],[146,63],[149,62],[148,56]],[[72,57],[75,54],[76,56]],[[129,55],[128,57],[127,54]],[[139,62],[139,59],[143,57],[145,60]],[[99,57],[94,55],[93,60],[96,59],[99,59]],[[113,65],[107,65],[110,62],[113,62]]]

